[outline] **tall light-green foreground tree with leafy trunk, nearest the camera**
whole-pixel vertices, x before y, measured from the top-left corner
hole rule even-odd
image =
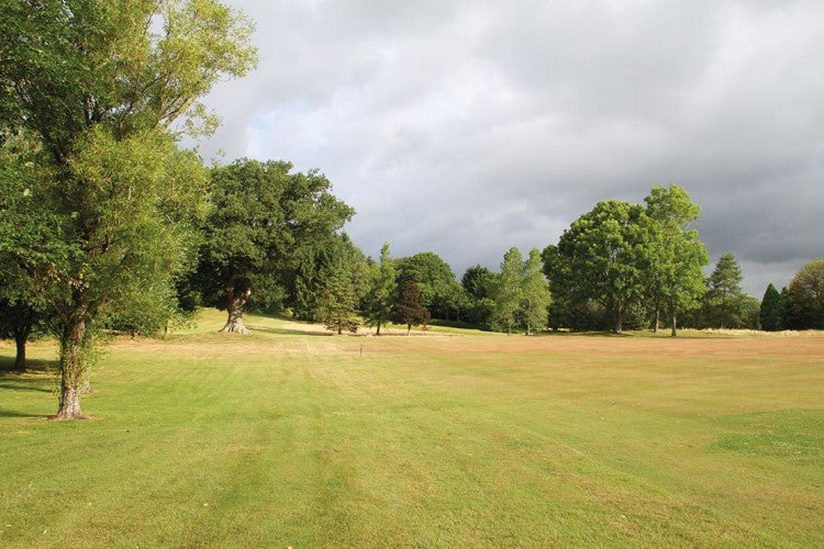
[[[214,127],[197,99],[253,67],[250,34],[214,0],[0,5],[0,125],[42,147],[32,194],[55,221],[35,253],[3,248],[57,323],[58,419],[82,417],[99,315],[186,260],[204,178],[176,132]]]

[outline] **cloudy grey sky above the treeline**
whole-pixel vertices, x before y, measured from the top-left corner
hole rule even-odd
[[[760,298],[824,256],[824,2],[224,0],[257,69],[200,153],[319,168],[372,257],[497,270],[677,183]]]

